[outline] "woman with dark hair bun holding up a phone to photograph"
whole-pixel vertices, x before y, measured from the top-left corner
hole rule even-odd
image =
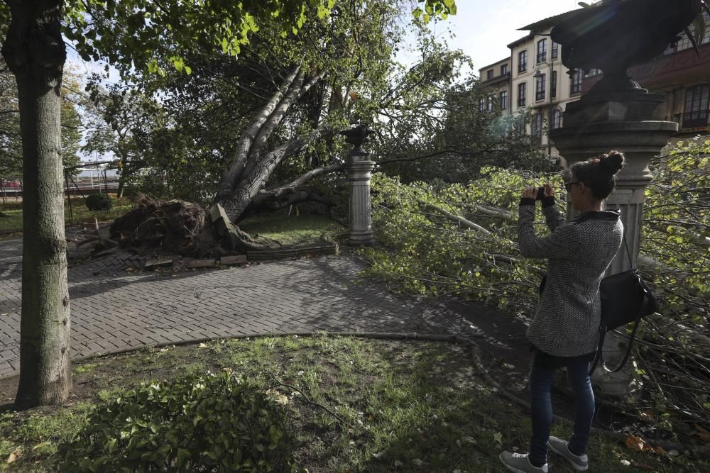
[[[594,392],[589,363],[599,336],[599,284],[621,247],[623,225],[618,212],[604,211],[603,200],[623,167],[621,152],[578,162],[567,172],[564,187],[579,216],[564,223],[550,184],[545,184],[542,213],[550,235],[535,236],[537,189],[528,186],[520,199],[518,245],[525,257],[547,258],[547,282],[526,335],[532,343],[530,453],[501,453],[513,472],[547,472],[547,447],[574,469],[589,467],[586,446],[594,418]],[[550,388],[557,369],[567,368],[574,391],[574,430],[569,442],[550,436]]]

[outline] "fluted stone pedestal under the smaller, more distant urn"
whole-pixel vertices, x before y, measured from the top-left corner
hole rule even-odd
[[[366,153],[351,153],[345,170],[350,182],[350,244],[371,245],[375,243],[372,233],[370,204],[370,180],[375,162]]]

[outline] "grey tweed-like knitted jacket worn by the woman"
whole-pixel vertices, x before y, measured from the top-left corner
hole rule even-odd
[[[547,228],[535,236],[535,201],[520,202],[518,244],[526,257],[547,258],[547,282],[526,335],[549,355],[573,357],[596,350],[601,300],[599,283],[621,247],[623,225],[613,211],[591,211],[568,223],[547,198],[542,207]]]

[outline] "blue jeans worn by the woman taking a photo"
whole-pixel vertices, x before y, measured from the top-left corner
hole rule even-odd
[[[552,399],[550,389],[557,369],[536,367],[530,369],[530,407],[532,408],[532,438],[530,458],[537,462],[547,461],[547,438],[552,425]],[[589,381],[589,363],[574,363],[567,366],[567,379],[574,391],[574,431],[569,440],[569,450],[582,455],[586,453],[591,421],[594,418],[594,391]]]

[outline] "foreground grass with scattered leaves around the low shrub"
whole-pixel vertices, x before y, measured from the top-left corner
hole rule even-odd
[[[526,450],[530,421],[472,366],[461,345],[327,335],[217,340],[95,358],[74,365],[67,406],[0,414],[0,471],[54,471],[58,443],[84,428],[92,405],[129,386],[228,369],[271,386],[269,393],[285,403],[299,440],[297,460],[312,473],[501,472],[498,453]],[[15,383],[0,380],[0,396],[11,398]],[[555,425],[553,435],[569,430]],[[633,452],[600,436],[591,439],[589,456],[591,472],[710,471],[708,462]],[[555,456],[550,466],[574,471]]]

